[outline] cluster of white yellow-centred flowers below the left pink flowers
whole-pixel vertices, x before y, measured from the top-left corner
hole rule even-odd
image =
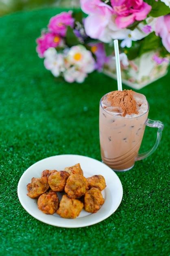
[[[62,54],[50,47],[44,53],[44,65],[54,76],[63,75],[65,81],[82,83],[95,69],[92,53],[83,45],[65,48]]]

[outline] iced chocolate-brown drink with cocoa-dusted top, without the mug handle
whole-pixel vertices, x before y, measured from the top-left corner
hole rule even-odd
[[[148,117],[148,102],[132,90],[109,92],[100,100],[102,161],[116,171],[133,167]]]

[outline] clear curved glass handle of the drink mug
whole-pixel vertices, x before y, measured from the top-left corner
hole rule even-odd
[[[149,127],[158,128],[157,139],[156,139],[156,142],[155,142],[155,145],[153,146],[153,148],[146,151],[145,153],[138,154],[136,161],[142,160],[142,159],[148,157],[149,155],[152,155],[155,152],[155,150],[157,149],[157,147],[161,141],[162,130],[164,127],[163,123],[161,121],[153,121],[151,119],[147,119],[145,124],[146,124],[146,126],[149,126]]]

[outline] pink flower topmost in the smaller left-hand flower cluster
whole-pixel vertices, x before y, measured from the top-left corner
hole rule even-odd
[[[65,36],[67,26],[74,27],[74,18],[72,18],[72,11],[61,12],[56,16],[50,18],[48,28],[50,31]]]

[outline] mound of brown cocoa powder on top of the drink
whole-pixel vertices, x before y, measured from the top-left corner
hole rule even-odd
[[[138,114],[137,103],[132,90],[113,91],[107,95],[107,100],[113,107],[122,108],[122,116]]]

